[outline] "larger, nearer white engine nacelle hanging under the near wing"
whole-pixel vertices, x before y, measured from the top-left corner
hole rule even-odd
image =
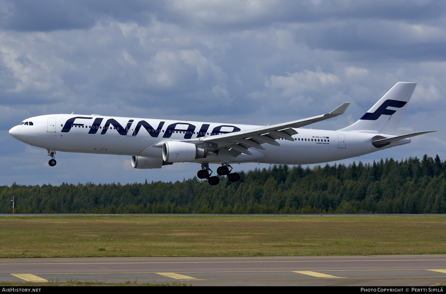
[[[163,144],[163,159],[167,162],[192,162],[206,156],[206,149],[192,143],[167,141]]]

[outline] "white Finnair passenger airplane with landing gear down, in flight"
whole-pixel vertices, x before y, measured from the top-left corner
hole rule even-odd
[[[56,151],[129,155],[136,169],[157,169],[176,162],[201,163],[197,177],[217,185],[209,163],[221,164],[217,174],[240,180],[231,163],[305,165],[342,160],[410,143],[395,136],[416,83],[396,83],[358,121],[339,130],[302,128],[339,116],[349,103],[301,120],[267,126],[198,121],[142,119],[98,114],[34,116],[9,130],[26,144],[46,149],[50,166]]]

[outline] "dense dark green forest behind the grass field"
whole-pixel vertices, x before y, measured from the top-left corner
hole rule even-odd
[[[446,213],[446,161],[271,166],[211,186],[183,182],[0,186],[0,213]]]

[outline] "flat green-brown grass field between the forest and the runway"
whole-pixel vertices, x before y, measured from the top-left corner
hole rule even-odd
[[[0,217],[0,257],[446,254],[444,216]]]

